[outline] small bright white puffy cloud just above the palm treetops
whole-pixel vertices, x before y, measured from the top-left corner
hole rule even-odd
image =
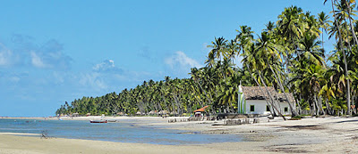
[[[192,58],[188,57],[185,53],[181,51],[175,52],[175,55],[171,57],[167,57],[165,59],[165,62],[172,69],[175,69],[177,66],[184,67],[184,68],[202,67],[198,61],[193,60]]]

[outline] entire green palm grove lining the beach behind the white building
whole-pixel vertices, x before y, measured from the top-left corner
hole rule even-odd
[[[144,81],[118,94],[83,97],[71,105],[65,102],[56,114],[135,115],[138,111],[166,110],[171,115],[183,115],[205,105],[209,105],[209,114],[236,112],[237,87],[242,81],[242,85],[260,86],[268,93],[267,101],[275,115],[280,115],[279,107],[267,86],[294,94],[294,101],[289,102],[294,118],[300,114],[352,115],[349,107],[358,101],[356,5],[346,0],[328,2],[332,4],[330,17],[325,12],[315,16],[291,6],[278,15],[276,22],[268,21],[259,35],[248,26],[240,26],[231,40],[216,37],[209,45],[206,66],[192,68],[191,78],[165,77],[163,81]],[[323,33],[336,40],[335,50],[325,52]],[[234,64],[239,56],[243,68]]]

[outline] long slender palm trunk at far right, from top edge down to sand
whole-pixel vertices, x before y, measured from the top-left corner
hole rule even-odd
[[[338,22],[337,22],[337,19],[336,19],[336,12],[335,12],[335,7],[334,7],[334,4],[333,4],[333,0],[331,0],[332,2],[332,10],[333,10],[333,17],[335,18],[335,24],[336,24],[336,27],[337,27],[337,30],[338,30],[338,36],[339,36],[339,45],[340,45],[340,49],[342,50],[342,53],[343,53],[343,59],[345,61],[345,77],[346,78],[346,83],[347,83],[347,92],[346,92],[346,95],[347,95],[347,106],[348,106],[348,109],[347,109],[347,112],[349,115],[352,115],[351,113],[351,93],[350,93],[350,87],[349,87],[349,79],[348,79],[348,67],[347,67],[347,63],[346,63],[346,60],[345,60],[345,50],[343,49],[343,45],[342,45],[342,35],[341,35],[341,31],[339,30],[339,25],[338,25]]]

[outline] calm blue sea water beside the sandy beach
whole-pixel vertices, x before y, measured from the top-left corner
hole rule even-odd
[[[42,134],[44,131],[48,136],[56,138],[166,145],[240,142],[242,140],[237,134],[188,134],[185,131],[158,126],[137,126],[129,121],[93,124],[90,121],[77,120],[0,118],[0,133]]]

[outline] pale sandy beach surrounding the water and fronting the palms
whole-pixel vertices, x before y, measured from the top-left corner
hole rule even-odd
[[[100,117],[63,118],[90,120]],[[43,118],[42,118],[43,119]],[[55,118],[54,118],[55,119]],[[73,139],[40,139],[0,134],[0,153],[358,153],[358,118],[260,118],[259,124],[213,126],[223,121],[167,123],[170,118],[107,118],[139,126],[165,126],[203,134],[243,136],[243,142],[203,145],[153,145]]]

